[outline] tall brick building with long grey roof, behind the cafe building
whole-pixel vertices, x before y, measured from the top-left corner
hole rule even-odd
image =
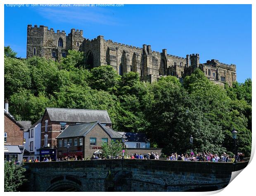
[[[46,108],[41,121],[40,161],[46,156],[56,159],[56,137],[66,127],[95,121],[111,128],[112,123],[105,110]]]

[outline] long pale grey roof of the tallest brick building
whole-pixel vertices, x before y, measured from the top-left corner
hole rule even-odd
[[[111,123],[106,110],[46,108],[51,121],[90,123]]]

